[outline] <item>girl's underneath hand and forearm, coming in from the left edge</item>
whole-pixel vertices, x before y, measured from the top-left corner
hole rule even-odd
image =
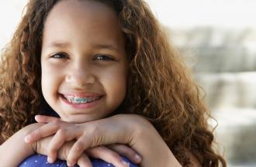
[[[54,119],[54,121],[57,122],[57,118],[51,119],[52,121]],[[28,143],[24,140],[27,135],[29,135],[34,130],[39,130],[39,128],[43,127],[44,125],[45,124],[40,123],[29,124],[25,128],[17,131],[14,135],[12,135],[11,138],[2,143],[2,145],[0,145],[1,166],[18,166],[25,158],[35,153],[47,155],[48,146],[54,138],[53,136],[42,138],[39,141],[33,143]],[[17,143],[19,143],[19,145],[17,145]],[[13,149],[13,145],[15,145],[15,149]],[[57,158],[67,160],[67,156],[71,150],[72,145],[74,145],[74,141],[68,141],[61,145],[61,148],[57,152]],[[134,152],[133,149],[128,148],[125,145],[113,144],[105,146],[97,145],[93,148],[86,149],[85,152],[79,155],[77,164],[81,167],[91,167],[92,163],[88,159],[88,156],[91,156],[93,158],[101,158],[102,160],[112,163],[117,167],[127,166],[127,164],[123,163],[122,158],[120,158],[119,155],[126,156],[126,158],[129,158],[134,163],[140,163],[141,161],[141,158],[136,158],[137,152]]]

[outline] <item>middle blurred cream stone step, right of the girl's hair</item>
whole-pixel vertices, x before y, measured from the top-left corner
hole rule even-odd
[[[256,72],[197,73],[210,108],[256,107]]]

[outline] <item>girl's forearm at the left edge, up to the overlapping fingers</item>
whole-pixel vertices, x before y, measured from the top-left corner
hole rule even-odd
[[[33,155],[32,145],[27,144],[24,138],[30,131],[38,126],[36,124],[29,125],[12,135],[7,141],[0,145],[0,162],[1,166],[18,166],[29,155]]]

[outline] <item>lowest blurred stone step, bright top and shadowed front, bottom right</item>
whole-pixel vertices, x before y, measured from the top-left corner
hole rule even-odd
[[[218,120],[216,138],[226,150],[227,162],[243,164],[243,166],[256,164],[256,110],[254,108],[221,108],[213,110],[213,117]],[[216,125],[214,121],[210,123],[213,126]]]

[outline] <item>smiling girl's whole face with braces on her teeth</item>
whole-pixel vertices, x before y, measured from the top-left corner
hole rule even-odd
[[[47,17],[43,97],[64,121],[105,118],[126,94],[125,39],[116,13],[93,1],[61,1]]]

